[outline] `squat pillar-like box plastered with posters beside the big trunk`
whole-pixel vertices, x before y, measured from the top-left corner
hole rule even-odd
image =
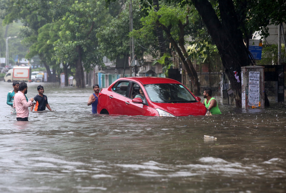
[[[264,66],[241,67],[243,109],[264,109]]]

